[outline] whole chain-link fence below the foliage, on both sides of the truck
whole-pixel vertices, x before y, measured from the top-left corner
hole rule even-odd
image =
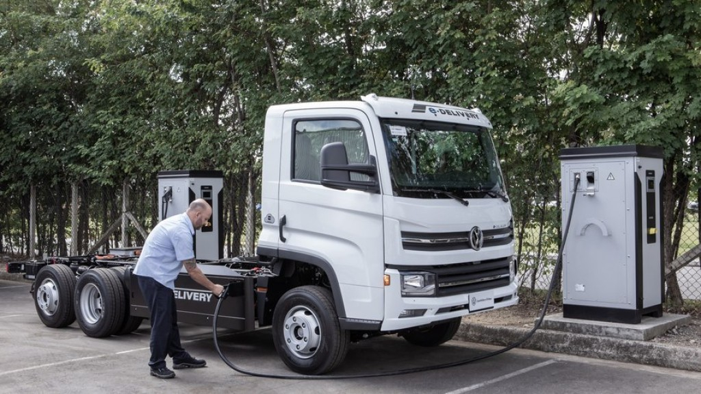
[[[224,226],[224,256],[236,257],[254,254],[254,245],[261,229],[260,215],[251,212],[260,201],[260,175],[239,172],[226,175],[222,193]],[[69,183],[47,179],[35,185],[36,189],[36,244],[29,250],[30,188],[2,191],[4,209],[0,210],[0,255],[4,259],[22,259],[29,256],[65,256],[86,254],[109,227],[118,222],[118,231],[107,238],[100,252],[114,247],[143,245],[144,237],[137,226],[123,228],[123,202],[128,196],[128,211],[149,231],[158,221],[158,179],[151,175],[130,179],[125,185],[100,185],[88,181]],[[126,187],[125,187],[126,186]],[[126,190],[126,192],[125,192]],[[125,194],[126,193],[126,194]],[[254,201],[250,201],[250,198]],[[77,201],[76,201],[77,200]],[[674,257],[699,244],[699,214],[696,198],[686,205],[679,245]],[[519,285],[524,289],[544,290],[557,258],[559,239],[559,201],[536,199],[529,204],[515,205],[516,257],[519,263]],[[77,215],[72,207],[77,205]],[[519,212],[519,207],[530,212]],[[520,208],[523,210],[524,208]],[[247,230],[247,215],[254,217],[254,230]],[[521,218],[521,219],[519,219]],[[524,219],[526,218],[526,219]],[[76,226],[72,226],[73,220]],[[701,311],[701,267],[699,259],[676,271],[676,278],[686,308]]]

